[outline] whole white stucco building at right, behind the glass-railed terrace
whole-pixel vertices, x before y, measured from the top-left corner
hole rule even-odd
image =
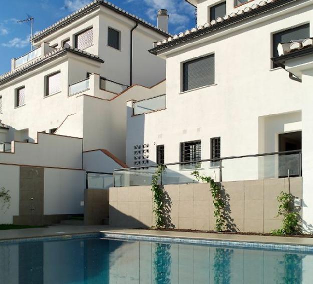
[[[166,59],[162,96],[128,102],[127,164],[294,150],[222,160],[223,181],[302,174],[303,229],[311,230],[313,1],[187,1],[197,28],[150,50]],[[218,162],[202,167],[219,178]]]

